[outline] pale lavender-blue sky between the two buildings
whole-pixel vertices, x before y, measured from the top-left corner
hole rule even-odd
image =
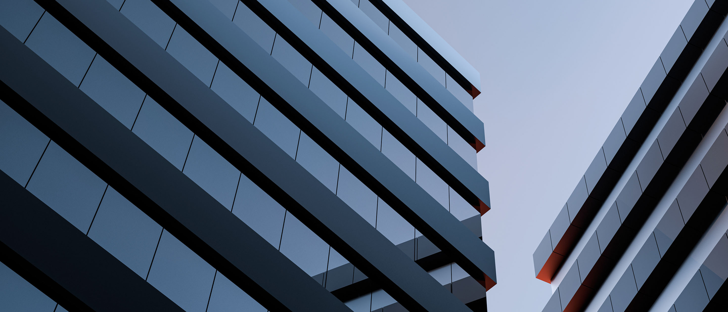
[[[404,0],[480,71],[488,311],[540,312],[533,252],[692,0]]]

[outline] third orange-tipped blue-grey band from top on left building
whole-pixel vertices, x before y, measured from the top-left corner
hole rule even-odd
[[[314,26],[296,7],[293,7],[293,4],[286,0],[245,0],[243,3],[266,20],[286,42],[296,47],[318,70],[331,79],[334,84],[339,85],[341,90],[344,90],[350,98],[368,111],[375,120],[383,125],[389,133],[392,133],[405,147],[408,147],[432,171],[435,171],[453,190],[476,207],[480,214],[488,211],[490,206],[488,181],[462,157],[457,155],[451,147],[448,147],[443,140],[439,139],[424,122],[412,114],[394,95],[381,87],[379,82],[371,77],[356,61],[342,53],[339,46]],[[191,16],[191,13],[188,13],[188,15]],[[202,22],[198,21],[197,24],[202,25]],[[229,33],[213,34],[213,31],[209,28],[206,30],[207,34],[213,36],[218,44],[223,45],[230,52],[234,52],[231,50],[233,48],[232,44],[227,43],[225,40],[225,35]],[[214,47],[208,45],[208,48],[214,53]],[[223,58],[223,55],[220,58]],[[246,66],[251,71],[256,71],[255,64],[257,63],[246,64]],[[256,71],[256,74],[258,77],[264,77],[264,73]],[[266,83],[274,87],[274,81],[266,81]],[[282,85],[277,88],[277,92],[283,94],[290,89],[290,85]],[[335,114],[333,118],[341,119]],[[311,122],[315,123],[314,120],[311,120]],[[316,126],[323,130],[325,125],[330,125],[332,122],[331,120],[325,120],[323,125],[317,123]],[[340,147],[347,143],[355,146],[364,144],[351,139],[336,143]]]

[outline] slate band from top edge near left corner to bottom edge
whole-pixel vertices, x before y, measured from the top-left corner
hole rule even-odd
[[[467,311],[465,305],[442,289],[435,278],[408,259],[111,4],[98,0],[36,2],[323,241],[377,281],[405,308],[411,311]],[[219,10],[215,11],[223,16]],[[232,248],[234,245],[225,246]],[[270,276],[268,279],[275,283],[285,281],[285,278]],[[312,288],[323,290],[320,286]],[[300,291],[289,296],[305,302],[315,301],[298,293]],[[336,302],[340,303],[339,300]]]

